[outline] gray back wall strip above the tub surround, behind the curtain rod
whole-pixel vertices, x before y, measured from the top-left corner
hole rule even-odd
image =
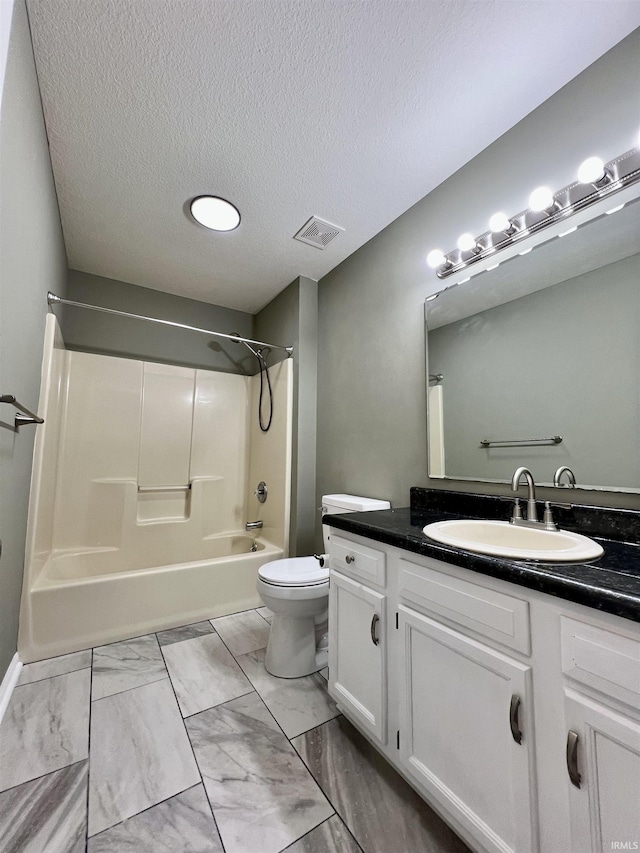
[[[69,270],[65,292],[58,295],[131,314],[253,337],[253,316],[244,311],[220,308],[78,270]],[[256,372],[256,359],[246,347],[224,338],[209,338],[184,329],[69,306],[57,307],[55,313],[61,318],[62,336],[69,349],[225,373]]]

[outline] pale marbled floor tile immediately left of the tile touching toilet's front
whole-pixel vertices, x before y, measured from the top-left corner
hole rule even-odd
[[[217,634],[173,643],[162,652],[183,717],[253,689]]]

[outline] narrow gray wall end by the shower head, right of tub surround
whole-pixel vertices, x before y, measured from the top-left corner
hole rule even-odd
[[[256,337],[295,347],[290,553],[314,550],[318,284],[301,276],[256,315]],[[280,359],[273,353],[270,363]]]

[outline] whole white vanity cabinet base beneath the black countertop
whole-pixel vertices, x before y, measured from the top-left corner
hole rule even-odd
[[[640,849],[635,623],[343,531],[330,566],[331,695],[474,851]]]

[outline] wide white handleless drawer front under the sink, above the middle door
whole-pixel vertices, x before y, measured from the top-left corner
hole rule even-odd
[[[510,649],[531,653],[527,601],[404,559],[400,596]]]

